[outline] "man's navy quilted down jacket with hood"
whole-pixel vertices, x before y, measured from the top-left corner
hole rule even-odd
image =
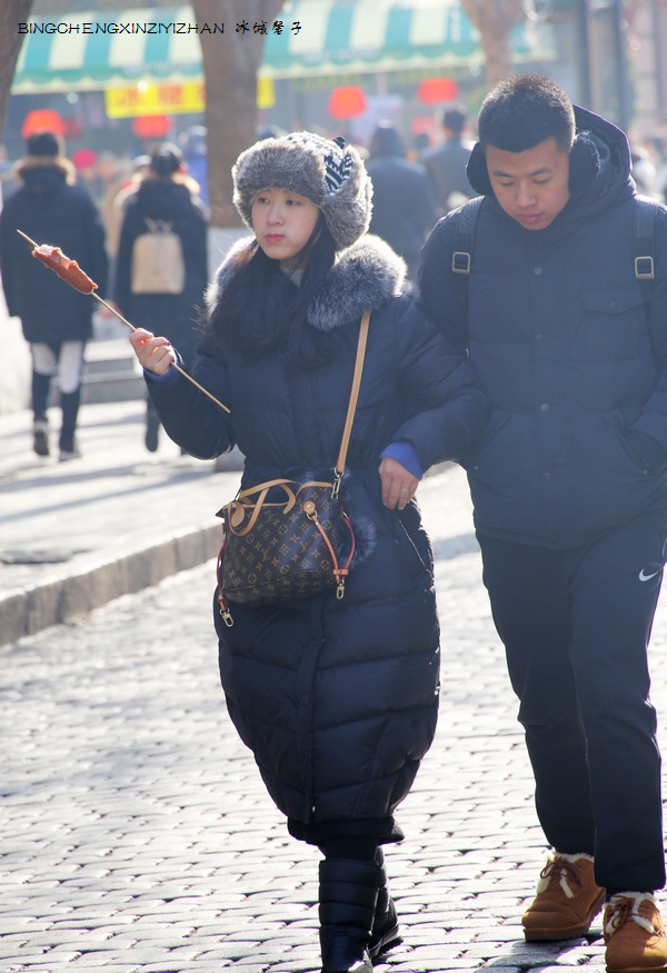
[[[450,272],[458,211],[434,229],[420,276],[428,315],[469,348],[492,404],[466,461],[477,528],[549,548],[667,509],[665,470],[647,468],[628,439],[637,430],[667,450],[667,210],[657,214],[645,308],[627,139],[584,109],[576,121],[570,199],[542,230],[504,212],[472,150],[468,175],[485,199],[467,316]]]

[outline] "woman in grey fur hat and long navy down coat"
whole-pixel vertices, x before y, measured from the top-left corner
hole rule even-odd
[[[468,365],[400,294],[405,264],[365,236],[371,185],[342,139],[257,142],[233,167],[239,240],[209,291],[196,379],[163,337],[130,340],[169,435],[189,453],[238,444],[241,487],[331,476],[359,322],[371,312],[341,498],[357,535],[345,597],[216,605],[231,718],[290,834],[321,848],[322,973],[370,973],[399,940],[382,845],[428,751],[438,707],[434,564],[414,495],[486,420]]]

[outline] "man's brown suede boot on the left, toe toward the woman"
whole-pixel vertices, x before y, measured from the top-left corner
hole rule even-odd
[[[521,919],[524,935],[528,942],[583,936],[604,901],[589,855],[551,852],[539,874],[537,895]]]

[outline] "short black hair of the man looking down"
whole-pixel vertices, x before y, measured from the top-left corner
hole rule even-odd
[[[489,91],[477,121],[479,142],[506,152],[524,152],[556,139],[561,151],[575,140],[575,109],[566,92],[542,75],[505,78]]]

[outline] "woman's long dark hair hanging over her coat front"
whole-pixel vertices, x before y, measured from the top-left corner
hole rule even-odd
[[[307,324],[307,316],[335,260],[336,245],[321,212],[299,255],[297,269],[305,268],[299,287],[255,240],[211,314],[218,340],[245,358],[283,355],[297,369],[329,361],[339,347],[337,329],[319,331]]]

